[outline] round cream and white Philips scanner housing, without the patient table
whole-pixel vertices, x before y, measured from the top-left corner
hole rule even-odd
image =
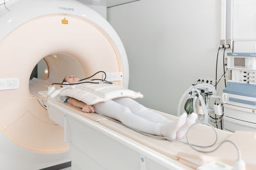
[[[77,1],[13,0],[6,7],[0,8],[1,166],[41,169],[68,162],[63,127],[48,117],[36,90],[67,74],[83,78],[99,69],[122,73],[116,83],[127,87],[124,46],[104,18]],[[29,91],[29,76],[43,58],[47,81]]]

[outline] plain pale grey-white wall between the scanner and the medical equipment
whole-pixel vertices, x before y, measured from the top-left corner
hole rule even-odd
[[[193,81],[214,79],[220,10],[220,0],[141,0],[108,8],[127,51],[129,89],[144,95],[141,104],[176,115]]]

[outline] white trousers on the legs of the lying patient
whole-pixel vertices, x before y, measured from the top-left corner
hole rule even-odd
[[[160,125],[171,121],[129,97],[113,99],[104,103],[93,104],[95,112],[115,118],[129,127],[148,134],[160,134]]]

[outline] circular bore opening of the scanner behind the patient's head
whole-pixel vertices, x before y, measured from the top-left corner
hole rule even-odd
[[[29,92],[38,97],[38,101],[46,109],[44,99],[48,87],[54,82],[61,83],[69,74],[84,77],[83,67],[74,57],[65,53],[47,55],[36,64],[30,75]]]

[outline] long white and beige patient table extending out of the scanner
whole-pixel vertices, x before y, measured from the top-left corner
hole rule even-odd
[[[83,113],[57,100],[48,102],[48,112],[49,117],[65,129],[65,141],[70,142],[70,159],[74,169],[195,169],[213,160],[232,166],[237,157],[236,150],[228,143],[214,153],[198,153],[183,143],[144,136],[97,113]],[[159,111],[157,113],[170,120],[177,118]],[[237,143],[239,136],[248,138],[252,135],[254,139],[251,139],[255,142],[256,134],[253,132],[230,134],[216,130],[217,144],[224,139]],[[198,145],[211,145],[215,139],[212,129],[205,125],[193,127],[189,137],[191,143]],[[186,137],[182,140],[185,141]],[[256,169],[253,162],[256,149],[250,148],[252,152],[248,153],[248,147],[253,143],[248,141],[248,145],[244,144],[243,140],[237,143],[246,167]]]

